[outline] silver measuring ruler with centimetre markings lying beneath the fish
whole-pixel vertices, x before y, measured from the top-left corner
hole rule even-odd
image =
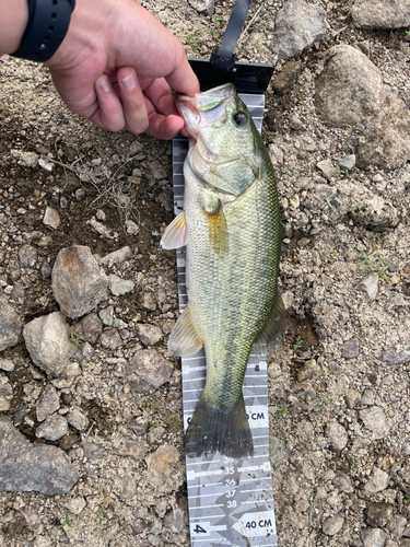
[[[239,94],[261,130],[263,95]],[[175,213],[184,206],[184,161],[188,140],[173,140]],[[187,303],[185,247],[177,251],[179,311]],[[204,386],[203,348],[183,358],[184,430]],[[243,393],[254,439],[253,457],[234,459],[219,452],[187,457],[189,524],[192,547],[277,547],[272,477],[269,463],[267,356],[250,352]]]

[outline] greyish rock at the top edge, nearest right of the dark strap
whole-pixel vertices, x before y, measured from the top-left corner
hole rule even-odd
[[[290,59],[326,34],[326,14],[319,5],[289,0],[274,21],[272,51],[276,59]]]

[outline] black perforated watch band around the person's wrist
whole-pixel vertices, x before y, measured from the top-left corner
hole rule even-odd
[[[70,26],[75,0],[27,0],[28,22],[13,57],[48,61],[60,47]]]

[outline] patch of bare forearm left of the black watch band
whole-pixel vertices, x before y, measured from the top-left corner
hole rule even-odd
[[[0,0],[0,54],[19,49],[27,21],[27,0]]]

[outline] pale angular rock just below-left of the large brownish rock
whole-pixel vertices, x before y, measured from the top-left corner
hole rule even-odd
[[[54,376],[65,371],[75,352],[75,346],[70,340],[70,327],[60,312],[27,323],[23,337],[33,362]]]

